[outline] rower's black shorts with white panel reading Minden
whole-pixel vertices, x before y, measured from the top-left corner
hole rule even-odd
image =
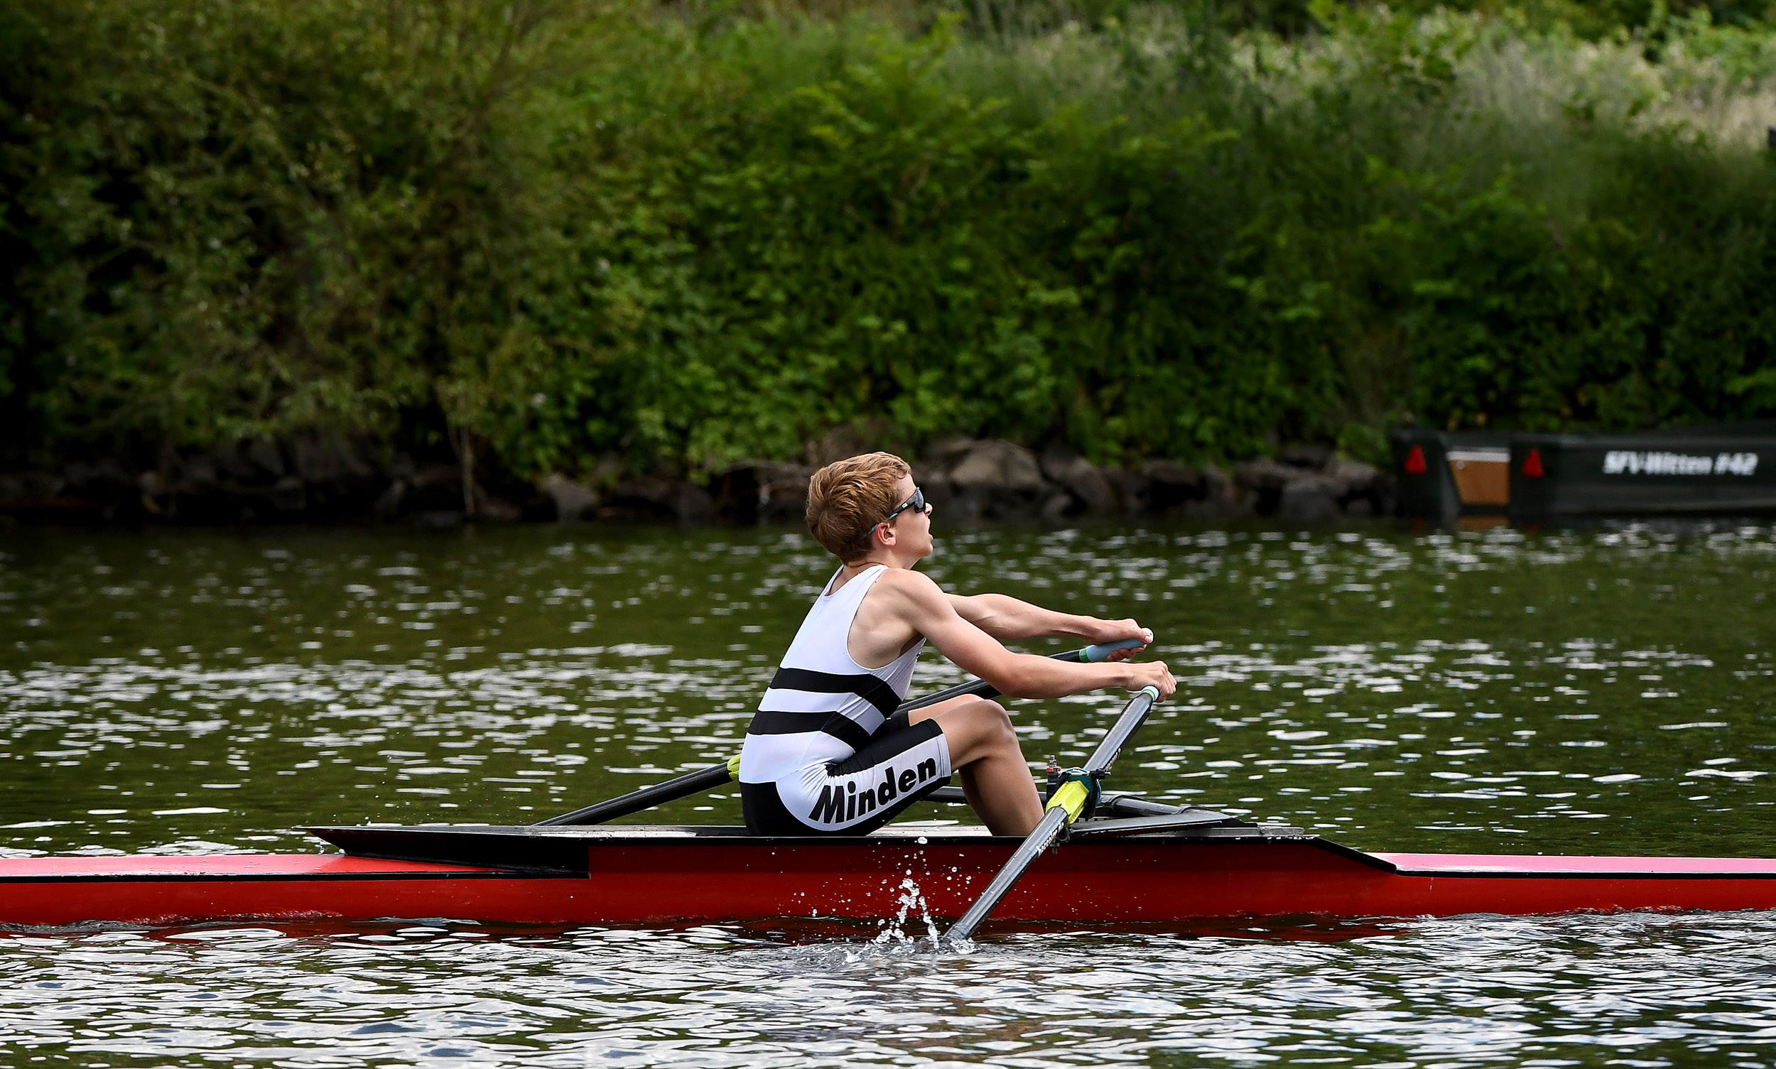
[[[741,810],[753,835],[868,835],[948,781],[943,728],[899,712],[844,760],[741,783]]]

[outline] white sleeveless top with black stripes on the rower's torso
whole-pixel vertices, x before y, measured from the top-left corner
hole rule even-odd
[[[833,572],[813,600],[746,730],[741,783],[774,783],[810,764],[845,760],[906,698],[925,639],[881,668],[851,659],[851,622],[886,570],[876,565],[836,591]]]

